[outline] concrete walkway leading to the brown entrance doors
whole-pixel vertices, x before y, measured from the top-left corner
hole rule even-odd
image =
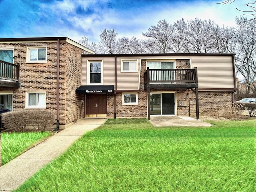
[[[106,119],[83,119],[0,167],[0,192],[13,191],[48,162],[65,152],[86,131]]]

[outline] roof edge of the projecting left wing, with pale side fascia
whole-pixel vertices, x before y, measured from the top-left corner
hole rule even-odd
[[[29,42],[29,41],[57,41],[57,40],[65,40],[66,42],[81,48],[82,50],[85,50],[91,54],[95,54],[93,50],[90,50],[89,48],[81,45],[78,42],[75,42],[74,40],[68,38],[68,37],[24,37],[24,38],[0,38],[0,42]]]

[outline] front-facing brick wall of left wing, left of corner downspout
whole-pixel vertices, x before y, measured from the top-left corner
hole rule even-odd
[[[61,47],[63,44],[61,42]],[[47,63],[26,63],[27,47],[29,46],[47,46]],[[27,91],[45,91],[46,110],[52,111],[56,115],[57,42],[10,42],[0,43],[0,47],[14,47],[14,56],[16,56],[14,64],[20,65],[20,88],[1,88],[1,90],[14,90],[13,110],[25,108]],[[20,57],[17,57],[18,54]],[[62,119],[63,122],[64,119]]]

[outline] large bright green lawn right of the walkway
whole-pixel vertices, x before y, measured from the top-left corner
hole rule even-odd
[[[153,127],[108,120],[17,191],[256,191],[256,122]]]

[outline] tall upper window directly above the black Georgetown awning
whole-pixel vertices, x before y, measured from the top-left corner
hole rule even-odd
[[[87,75],[88,84],[102,84],[102,61],[89,61],[87,70],[89,72]]]

